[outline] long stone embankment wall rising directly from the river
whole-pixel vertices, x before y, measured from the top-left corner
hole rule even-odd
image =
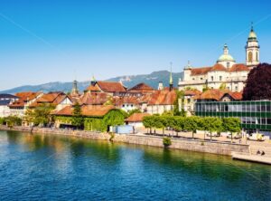
[[[7,129],[0,127],[0,129]],[[17,127],[13,130],[30,132],[31,128]],[[115,142],[124,142],[130,144],[147,145],[153,147],[163,148],[163,138],[156,136],[134,135],[134,134],[115,134],[113,137],[108,133],[91,132],[83,130],[68,130],[68,129],[47,129],[47,128],[33,128],[34,133],[47,133],[54,135],[73,136],[86,139],[102,139]],[[231,144],[227,142],[217,141],[202,141],[193,139],[172,139],[172,145],[169,148],[177,148],[182,150],[206,152],[212,154],[228,155],[231,152],[249,153],[249,145]]]

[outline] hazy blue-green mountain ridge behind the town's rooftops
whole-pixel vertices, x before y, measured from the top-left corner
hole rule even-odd
[[[173,82],[174,86],[178,85],[178,81],[182,78],[182,72],[173,72]],[[127,88],[131,88],[140,82],[145,82],[150,85],[154,89],[157,89],[158,82],[163,81],[164,86],[168,86],[169,83],[170,72],[168,71],[160,71],[160,72],[152,72],[150,74],[141,74],[141,75],[125,75],[119,76],[116,78],[108,79],[107,81],[122,81],[123,84]],[[89,86],[90,81],[79,81],[79,91],[84,91]],[[54,81],[39,85],[24,85],[21,87],[16,87],[6,91],[0,91],[0,93],[16,93],[19,91],[70,91],[72,87],[72,82],[60,82]]]

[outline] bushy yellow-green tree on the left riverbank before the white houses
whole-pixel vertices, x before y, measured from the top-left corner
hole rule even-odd
[[[27,109],[25,113],[25,117],[23,120],[33,123],[33,125],[42,125],[45,126],[48,123],[51,122],[52,116],[51,116],[51,110],[54,110],[55,107],[48,104],[42,104],[41,106],[38,106],[36,108]]]

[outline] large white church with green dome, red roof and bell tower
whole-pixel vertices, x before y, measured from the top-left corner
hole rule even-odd
[[[228,89],[243,91],[248,79],[248,72],[259,63],[259,45],[257,34],[251,27],[246,44],[246,63],[237,63],[229,54],[227,44],[223,54],[212,66],[195,68],[190,62],[184,67],[183,77],[179,81],[179,90],[196,89]]]

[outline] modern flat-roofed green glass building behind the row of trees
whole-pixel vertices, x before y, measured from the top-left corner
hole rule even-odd
[[[238,117],[242,129],[271,131],[271,101],[197,101],[201,117]]]

